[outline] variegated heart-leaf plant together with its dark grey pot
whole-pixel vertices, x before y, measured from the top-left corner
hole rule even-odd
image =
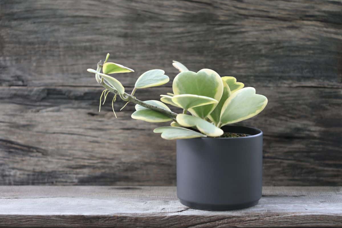
[[[236,82],[234,77],[220,77],[211,69],[189,71],[180,62],[173,66],[180,73],[174,78],[173,93],[159,100],[141,101],[138,89],[169,82],[163,70],[143,73],[131,94],[111,73],[133,72],[120,64],[97,64],[96,81],[105,90],[100,97],[113,93],[126,105],[135,104],[132,118],[147,122],[170,122],[171,126],[154,129],[164,139],[177,139],[177,197],[181,203],[203,210],[231,210],[256,205],[262,190],[262,131],[228,125],[260,113],[267,98],[255,94],[252,87]],[[101,73],[101,70],[103,73]],[[103,102],[104,103],[104,102]],[[183,109],[175,113],[166,105]],[[126,106],[125,105],[125,106]],[[114,111],[114,108],[113,108]],[[114,111],[115,113],[115,111]]]

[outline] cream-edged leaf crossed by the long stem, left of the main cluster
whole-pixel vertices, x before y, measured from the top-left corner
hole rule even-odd
[[[146,100],[144,103],[171,111],[168,106],[166,106],[159,100]],[[132,113],[131,117],[136,120],[143,120],[151,123],[162,123],[172,120],[172,118],[168,115],[165,115],[161,112],[152,109],[145,108],[141,105],[135,105],[135,110],[136,111]]]

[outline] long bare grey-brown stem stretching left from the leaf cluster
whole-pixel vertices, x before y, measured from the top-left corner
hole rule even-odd
[[[111,86],[107,85],[106,82],[104,82],[104,80],[102,79],[101,80],[101,83],[100,83],[105,89],[109,90],[110,92],[112,93],[115,93],[115,94],[119,94],[119,92],[115,89],[113,89]],[[152,109],[152,110],[155,110],[157,112],[160,112],[160,113],[163,113],[167,116],[170,116],[172,118],[176,118],[177,116],[177,113],[173,112],[173,111],[169,111],[169,110],[166,110],[166,109],[163,109],[163,108],[160,108],[160,107],[157,107],[155,105],[150,105],[150,104],[147,104],[145,102],[143,102],[142,100],[139,100],[139,99],[136,99],[134,96],[132,96],[131,94],[128,94],[128,93],[124,93],[124,94],[119,94],[121,99],[123,99],[124,101],[129,101],[129,102],[132,102],[134,104],[138,104],[138,105],[141,105],[145,108],[148,108],[148,109]]]

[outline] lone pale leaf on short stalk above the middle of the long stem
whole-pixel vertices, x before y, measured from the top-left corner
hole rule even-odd
[[[160,69],[146,71],[136,80],[135,88],[143,89],[168,83],[170,78],[164,73],[165,71]]]

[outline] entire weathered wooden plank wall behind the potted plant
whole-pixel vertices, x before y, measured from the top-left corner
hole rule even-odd
[[[107,52],[128,91],[172,60],[254,86],[268,106],[240,124],[264,131],[264,185],[341,185],[340,0],[0,1],[0,185],[175,184],[163,124],[98,113],[86,69]]]

